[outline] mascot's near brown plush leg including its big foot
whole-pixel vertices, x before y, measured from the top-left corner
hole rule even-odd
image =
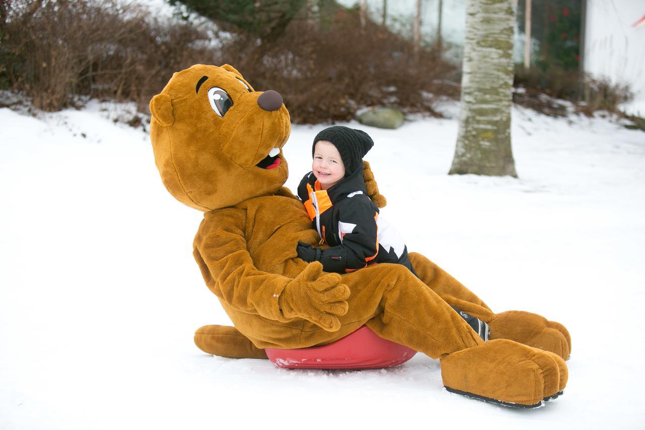
[[[370,271],[370,276],[344,278],[352,290],[350,312],[378,300],[379,312],[368,327],[382,338],[441,358],[442,379],[451,391],[534,407],[566,385],[564,360],[511,340],[482,342],[448,303],[405,267],[383,264],[362,271]]]

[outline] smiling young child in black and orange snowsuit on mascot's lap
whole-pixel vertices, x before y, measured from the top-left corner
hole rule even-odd
[[[408,258],[401,235],[379,216],[379,208],[367,195],[362,178],[362,158],[374,142],[366,132],[333,126],[313,139],[312,171],[298,187],[320,244],[314,248],[299,242],[298,256],[304,261],[320,261],[326,272],[353,272],[369,264],[402,264],[417,275]],[[466,322],[488,340],[488,324],[453,307]]]

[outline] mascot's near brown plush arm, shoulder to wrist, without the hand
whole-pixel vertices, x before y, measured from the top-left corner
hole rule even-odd
[[[230,307],[286,322],[278,298],[292,280],[255,268],[246,249],[245,222],[241,209],[204,214],[193,242],[195,260],[208,288]]]

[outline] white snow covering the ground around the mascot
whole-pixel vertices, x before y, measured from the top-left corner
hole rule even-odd
[[[289,371],[201,353],[195,329],[230,323],[192,258],[201,212],[166,192],[146,132],[112,120],[130,108],[0,109],[1,429],[642,428],[643,132],[515,108],[511,179],[446,174],[454,116],[350,124],[376,142],[382,214],[409,249],[496,311],[570,329],[564,395],[518,411],[448,393],[423,354]],[[293,127],[292,190],[322,127]]]

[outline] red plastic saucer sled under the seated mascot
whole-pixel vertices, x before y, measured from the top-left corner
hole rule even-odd
[[[417,353],[379,337],[366,325],[329,345],[264,351],[273,364],[285,369],[379,369],[405,363]]]

